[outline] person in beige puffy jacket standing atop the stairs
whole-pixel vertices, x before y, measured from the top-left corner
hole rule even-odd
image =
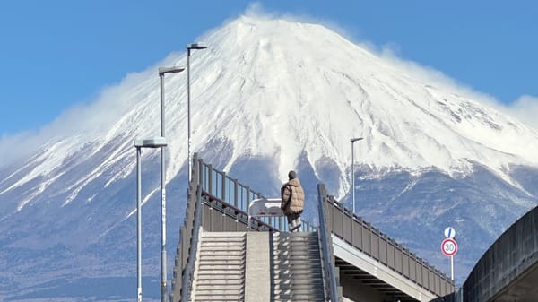
[[[288,218],[291,232],[299,232],[301,229],[300,214],[305,203],[305,192],[300,186],[299,178],[295,171],[288,173],[288,182],[281,188],[281,209]]]

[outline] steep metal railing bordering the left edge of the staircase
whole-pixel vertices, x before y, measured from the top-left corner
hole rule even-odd
[[[195,273],[196,254],[198,251],[198,236],[202,228],[202,188],[196,186],[195,220],[193,223],[193,236],[191,237],[190,252],[185,265],[185,273],[182,278],[181,300],[188,301],[192,289],[192,282]]]

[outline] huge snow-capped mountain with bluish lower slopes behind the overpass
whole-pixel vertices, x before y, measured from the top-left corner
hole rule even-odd
[[[358,136],[359,214],[445,272],[438,245],[455,227],[460,280],[538,200],[538,132],[466,91],[318,24],[241,16],[201,39],[208,49],[191,57],[193,150],[268,196],[298,170],[309,218],[318,181],[351,200]],[[186,60],[178,53],[161,65]],[[159,81],[157,67],[127,77],[61,116],[51,128],[65,129],[30,156],[0,166],[0,280],[9,285],[0,295],[80,287],[69,292],[83,296],[88,282],[134,280],[133,142],[159,134]],[[165,82],[173,256],[187,188],[186,74]],[[157,151],[143,150],[143,167],[143,272],[158,280]],[[109,291],[101,300],[128,297],[131,286]]]

